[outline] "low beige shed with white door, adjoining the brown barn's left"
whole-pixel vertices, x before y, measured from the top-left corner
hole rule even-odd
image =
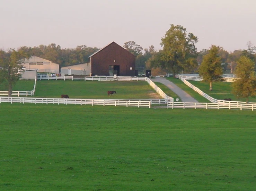
[[[68,75],[90,75],[91,73],[91,63],[75,64],[72,66],[61,67],[61,74]]]

